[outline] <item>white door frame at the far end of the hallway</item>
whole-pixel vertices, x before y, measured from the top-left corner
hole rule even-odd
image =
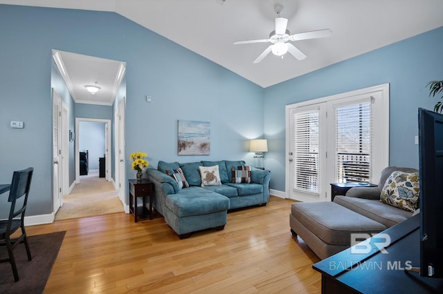
[[[75,183],[80,183],[80,121],[92,121],[105,123],[106,141],[105,141],[105,157],[106,157],[106,173],[105,179],[111,180],[111,119],[89,119],[75,117]]]

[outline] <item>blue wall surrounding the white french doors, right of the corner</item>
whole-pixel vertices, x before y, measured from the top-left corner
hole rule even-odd
[[[300,101],[390,84],[390,165],[418,168],[417,108],[433,109],[428,81],[443,79],[443,27],[264,90],[265,166],[272,188],[284,190],[284,107]],[[308,57],[309,58],[309,57]]]

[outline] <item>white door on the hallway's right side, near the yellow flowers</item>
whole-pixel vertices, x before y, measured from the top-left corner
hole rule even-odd
[[[126,204],[125,98],[118,105],[118,196]]]

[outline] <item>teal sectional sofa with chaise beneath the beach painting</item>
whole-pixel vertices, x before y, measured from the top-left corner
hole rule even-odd
[[[218,166],[219,184],[202,186],[200,166]],[[153,206],[165,222],[180,238],[207,228],[224,229],[228,210],[255,205],[266,205],[269,201],[268,170],[251,168],[251,183],[233,183],[233,167],[246,166],[245,161],[197,161],[180,164],[159,161],[157,168],[147,168],[145,175],[154,183]],[[172,176],[174,170],[183,171],[183,185]],[[168,175],[168,172],[170,175]],[[238,182],[238,180],[237,180]]]

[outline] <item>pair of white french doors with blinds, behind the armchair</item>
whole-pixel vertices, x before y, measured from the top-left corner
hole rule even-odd
[[[286,116],[291,199],[330,201],[331,183],[378,181],[388,166],[388,84],[292,104]]]

